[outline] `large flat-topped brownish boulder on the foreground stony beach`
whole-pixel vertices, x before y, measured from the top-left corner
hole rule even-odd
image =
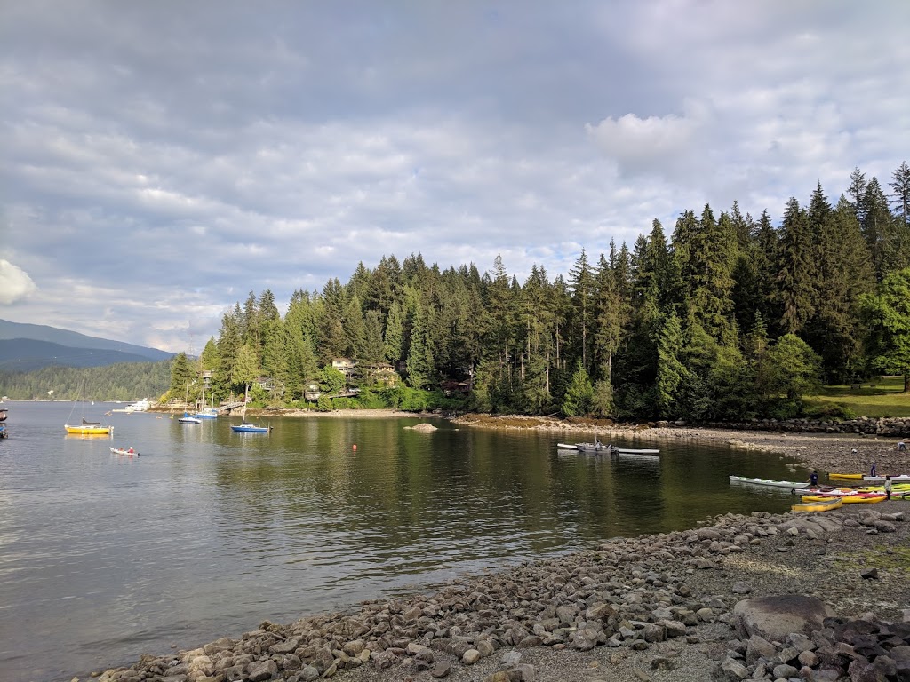
[[[782,642],[791,633],[809,635],[821,629],[824,618],[835,615],[816,597],[754,597],[733,607],[733,626],[743,639],[758,635],[770,642]]]

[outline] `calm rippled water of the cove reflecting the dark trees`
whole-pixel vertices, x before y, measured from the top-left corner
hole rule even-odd
[[[71,403],[5,406],[0,670],[17,682],[791,504],[731,486],[731,473],[793,475],[777,457],[727,447],[602,457],[558,451],[566,436],[441,420],[423,434],[405,428],[418,418],[277,418],[261,435],[232,433],[226,417],[155,414],[104,417],[114,437],[83,438],[64,433]]]

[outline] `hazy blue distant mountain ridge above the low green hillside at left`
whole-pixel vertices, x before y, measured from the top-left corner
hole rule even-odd
[[[0,369],[28,372],[49,365],[96,367],[121,362],[159,362],[173,357],[157,348],[134,346],[53,326],[0,320]]]

